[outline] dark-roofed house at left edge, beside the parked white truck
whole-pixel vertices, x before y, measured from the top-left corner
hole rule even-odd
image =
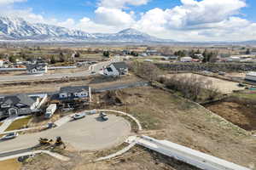
[[[0,118],[32,114],[40,103],[39,97],[26,94],[0,98]]]

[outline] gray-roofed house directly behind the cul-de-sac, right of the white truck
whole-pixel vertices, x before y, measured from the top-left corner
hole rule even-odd
[[[83,99],[91,101],[91,91],[89,86],[67,86],[62,87],[59,92],[61,100]]]

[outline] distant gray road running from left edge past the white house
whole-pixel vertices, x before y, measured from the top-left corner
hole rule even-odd
[[[14,76],[14,77],[0,77],[0,82],[21,82],[21,81],[33,81],[33,80],[47,80],[47,79],[61,79],[62,77],[88,77],[90,76],[91,71],[99,72],[103,66],[109,65],[116,59],[111,61],[101,62],[96,65],[91,66],[91,70],[88,71],[79,71],[75,73],[59,73],[52,75],[27,75],[27,76]]]

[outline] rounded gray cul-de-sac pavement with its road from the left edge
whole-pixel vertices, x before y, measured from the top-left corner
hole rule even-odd
[[[67,122],[40,133],[24,134],[16,139],[0,140],[0,155],[31,148],[38,144],[38,139],[54,139],[61,136],[64,143],[71,144],[76,150],[102,150],[121,144],[131,132],[129,122],[121,116],[108,115],[109,120],[102,122],[98,115],[86,116],[78,121]]]

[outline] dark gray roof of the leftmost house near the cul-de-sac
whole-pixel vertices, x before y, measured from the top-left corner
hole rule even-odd
[[[2,103],[9,105],[17,105],[20,103],[24,105],[32,105],[35,101],[26,94],[18,94],[16,96],[4,97],[4,99],[2,99]]]

